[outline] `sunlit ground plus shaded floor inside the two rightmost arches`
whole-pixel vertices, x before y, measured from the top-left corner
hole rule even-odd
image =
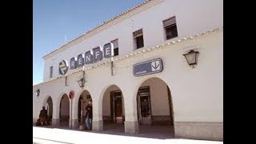
[[[124,133],[122,125],[104,125],[104,131],[69,130],[51,128],[50,126],[33,126],[33,142],[38,143],[174,143],[174,144],[222,144],[223,142],[203,141],[174,138],[172,127],[166,126],[140,126],[140,134]]]

